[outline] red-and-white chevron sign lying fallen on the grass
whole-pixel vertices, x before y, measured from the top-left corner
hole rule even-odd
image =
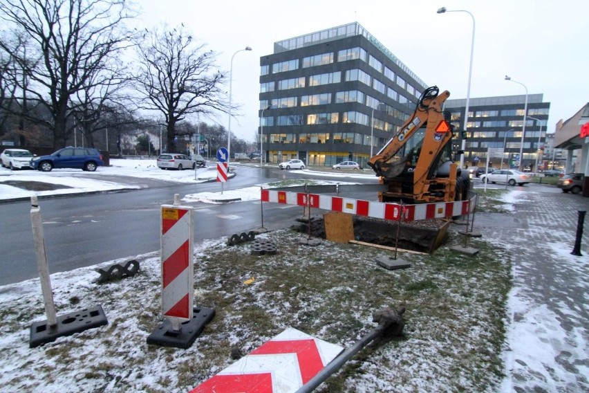
[[[190,393],[295,392],[342,349],[288,328]]]

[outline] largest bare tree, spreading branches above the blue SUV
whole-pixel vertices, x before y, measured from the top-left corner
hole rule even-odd
[[[66,143],[84,102],[80,94],[100,91],[108,77],[98,75],[120,66],[116,56],[133,37],[124,30],[128,12],[124,0],[3,0],[0,19],[26,35],[28,58],[15,46],[0,45],[27,75],[19,84],[22,96],[45,108],[35,113],[49,116],[21,113],[53,131],[53,147]]]

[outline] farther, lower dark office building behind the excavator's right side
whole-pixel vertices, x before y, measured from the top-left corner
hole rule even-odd
[[[552,157],[545,155],[544,151],[550,102],[543,102],[542,94],[528,94],[525,125],[524,108],[525,95],[471,98],[465,165],[484,167],[488,149],[491,149],[489,162],[492,167],[520,167],[531,172],[548,169]],[[462,129],[466,100],[447,100],[444,110],[451,113],[454,129]],[[455,151],[459,148],[455,146]],[[498,153],[501,149],[503,154]],[[523,156],[521,162],[520,154]]]

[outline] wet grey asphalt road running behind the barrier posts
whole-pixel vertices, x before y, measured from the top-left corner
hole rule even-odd
[[[224,190],[297,177],[304,176],[277,168],[239,167],[237,176],[225,183]],[[104,176],[100,179],[104,180]],[[132,183],[120,177],[116,180]],[[221,184],[216,182],[178,185],[141,179],[141,183],[145,187],[142,190],[39,200],[50,273],[158,251],[160,205],[173,203],[174,194],[183,197],[221,190]],[[259,201],[185,204],[195,210],[195,242],[228,237],[261,226]],[[263,223],[268,229],[285,228],[301,215],[302,210],[297,206],[274,203],[263,206]],[[0,285],[38,277],[30,201],[3,204],[0,220],[3,223]]]

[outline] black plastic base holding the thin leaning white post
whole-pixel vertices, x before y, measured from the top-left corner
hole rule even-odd
[[[53,342],[62,336],[71,336],[73,333],[108,325],[106,315],[102,306],[90,307],[81,311],[75,311],[63,316],[57,317],[57,325],[51,327],[46,320],[33,322],[30,325],[30,339],[28,346],[30,348],[39,347],[39,345]]]

